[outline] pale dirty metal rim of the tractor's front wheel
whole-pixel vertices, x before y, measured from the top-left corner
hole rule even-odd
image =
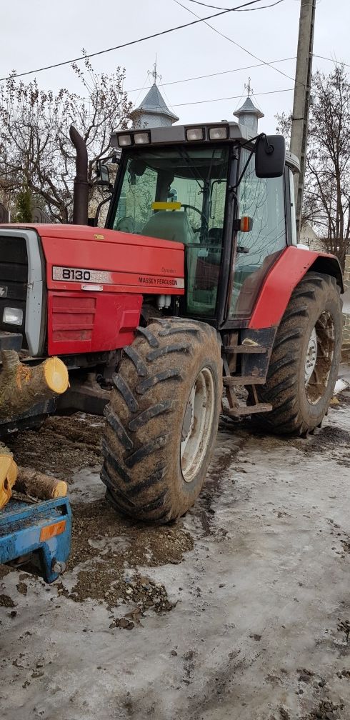
[[[214,418],[212,372],[204,367],[189,393],[181,432],[180,462],[185,482],[192,482],[205,458]]]

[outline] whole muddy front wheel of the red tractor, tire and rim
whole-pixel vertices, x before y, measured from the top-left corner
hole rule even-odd
[[[169,318],[138,328],[105,408],[101,478],[117,510],[159,524],[193,505],[215,445],[222,375],[210,325]]]

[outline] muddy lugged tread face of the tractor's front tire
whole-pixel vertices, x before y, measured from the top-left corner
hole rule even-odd
[[[181,338],[169,342],[172,336]],[[105,411],[101,478],[115,508],[141,521],[163,523],[182,512],[174,507],[166,482],[171,467],[168,431],[183,402],[184,366],[192,361],[194,343],[197,353],[215,343],[220,361],[216,332],[210,325],[155,318],[147,328],[138,328],[113,378],[115,389]]]

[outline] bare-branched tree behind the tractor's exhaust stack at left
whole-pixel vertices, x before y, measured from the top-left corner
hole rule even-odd
[[[0,179],[7,194],[25,185],[44,205],[53,222],[70,222],[73,210],[73,123],[86,141],[89,180],[107,153],[112,130],[127,127],[132,105],[123,91],[125,71],[97,75],[89,58],[84,69],[73,64],[81,94],[43,91],[34,80],[24,84],[15,73],[0,87]]]

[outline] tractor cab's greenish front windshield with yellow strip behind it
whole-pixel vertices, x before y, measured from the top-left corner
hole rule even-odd
[[[228,146],[133,150],[127,156],[112,228],[184,243],[187,312],[215,315]]]

